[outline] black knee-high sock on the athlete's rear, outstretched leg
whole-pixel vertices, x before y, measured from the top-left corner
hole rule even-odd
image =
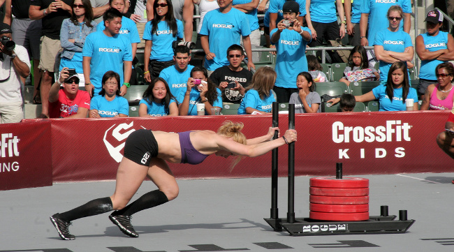
[[[59,218],[64,221],[73,221],[78,218],[103,214],[112,210],[112,200],[110,200],[110,197],[98,198],[96,200],[91,200],[80,207],[69,210],[68,212],[59,214]]]

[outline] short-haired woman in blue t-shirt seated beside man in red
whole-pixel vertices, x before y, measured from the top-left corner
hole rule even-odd
[[[91,99],[89,118],[128,117],[128,100],[120,96],[120,75],[107,71],[102,82],[103,89]]]

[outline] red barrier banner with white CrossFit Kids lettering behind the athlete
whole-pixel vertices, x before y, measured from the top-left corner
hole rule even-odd
[[[295,175],[335,175],[337,162],[344,163],[344,175],[451,172],[453,160],[435,142],[447,118],[448,112],[436,111],[297,114]],[[226,119],[242,121],[248,138],[266,133],[272,121],[262,115],[47,120],[52,124],[53,179],[115,179],[124,141],[132,131],[216,131]],[[280,115],[279,122],[283,133],[288,117]],[[280,147],[281,176],[286,175],[287,160],[287,147]],[[178,178],[270,176],[271,154],[244,158],[232,172],[230,163],[210,156],[200,165],[170,168]]]

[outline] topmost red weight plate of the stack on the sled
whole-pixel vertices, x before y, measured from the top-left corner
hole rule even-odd
[[[328,188],[365,188],[369,187],[369,179],[362,177],[344,177],[342,179],[336,179],[336,177],[312,177],[309,180],[309,185]]]

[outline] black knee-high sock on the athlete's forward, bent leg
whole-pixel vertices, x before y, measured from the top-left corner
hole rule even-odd
[[[166,194],[159,190],[154,190],[149,193],[145,193],[142,197],[138,198],[136,201],[124,207],[124,209],[115,211],[112,215],[127,215],[131,216],[136,214],[139,211],[156,207],[168,202]]]

